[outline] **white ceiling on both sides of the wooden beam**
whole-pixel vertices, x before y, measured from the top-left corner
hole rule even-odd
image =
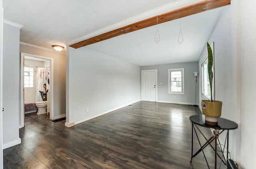
[[[144,12],[188,0],[3,0],[4,19],[23,25],[20,41],[52,49]],[[190,0],[191,1],[191,0]],[[86,47],[139,66],[198,61],[223,8],[140,29]],[[65,50],[64,49],[64,50]]]

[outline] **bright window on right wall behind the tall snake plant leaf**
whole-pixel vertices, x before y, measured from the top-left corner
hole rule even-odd
[[[210,81],[209,81],[209,77],[208,77],[208,57],[206,57],[206,59],[204,60],[204,62],[201,65],[201,69],[202,69],[202,95],[207,98],[207,99],[211,99],[211,89],[210,89]],[[212,65],[212,72],[213,71],[213,65]],[[213,76],[214,77],[214,76]],[[214,78],[212,79],[212,97],[214,94]]]

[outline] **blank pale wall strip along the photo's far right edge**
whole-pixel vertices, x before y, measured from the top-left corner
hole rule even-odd
[[[238,3],[238,2],[237,2]],[[241,46],[241,166],[256,168],[256,1],[240,4]]]

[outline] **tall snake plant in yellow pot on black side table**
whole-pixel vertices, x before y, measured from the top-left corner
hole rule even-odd
[[[218,122],[218,118],[221,116],[222,102],[217,100],[212,100],[212,64],[213,64],[213,54],[209,43],[207,42],[208,50],[208,77],[210,82],[210,96],[211,100],[202,100],[202,113],[205,115],[205,120],[208,122]]]

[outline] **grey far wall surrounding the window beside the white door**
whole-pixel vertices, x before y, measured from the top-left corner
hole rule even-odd
[[[184,68],[185,94],[168,93],[168,69]],[[196,77],[194,72],[198,72],[198,63],[174,63],[166,65],[144,66],[141,70],[157,69],[157,101],[179,104],[194,105],[196,101]],[[160,85],[162,83],[162,85]],[[198,83],[197,83],[198,86]],[[174,98],[175,96],[175,98]],[[198,95],[197,95],[198,98]],[[198,102],[196,103],[198,105]]]

